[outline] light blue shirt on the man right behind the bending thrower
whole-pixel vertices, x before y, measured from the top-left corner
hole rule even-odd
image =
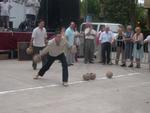
[[[65,32],[66,39],[68,41],[68,46],[71,47],[74,44],[75,32],[70,27],[67,28]]]

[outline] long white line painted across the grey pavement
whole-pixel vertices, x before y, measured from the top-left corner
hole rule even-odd
[[[133,76],[133,75],[139,75],[140,73],[129,73],[127,75],[117,75],[113,76],[113,78],[120,78],[120,77],[126,77],[126,76]],[[96,80],[106,80],[108,79],[107,77],[101,77],[97,78]],[[69,83],[69,85],[74,85],[74,84],[81,84],[85,83],[87,81],[75,81]],[[23,92],[23,91],[30,91],[30,90],[37,90],[37,89],[44,89],[44,88],[51,88],[51,87],[58,87],[61,86],[59,84],[52,84],[52,85],[46,85],[46,86],[39,86],[39,87],[31,87],[31,88],[24,88],[24,89],[17,89],[17,90],[9,90],[9,91],[1,91],[0,95],[5,95],[5,94],[10,94],[10,93],[18,93],[18,92]]]

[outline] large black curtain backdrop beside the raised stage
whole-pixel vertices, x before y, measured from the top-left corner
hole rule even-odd
[[[79,7],[80,0],[42,0],[37,20],[44,19],[50,30],[67,27],[71,21],[79,21]]]

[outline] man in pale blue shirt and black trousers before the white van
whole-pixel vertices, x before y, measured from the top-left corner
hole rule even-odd
[[[111,64],[111,44],[113,41],[113,33],[110,31],[109,27],[105,27],[105,31],[101,33],[99,38],[102,45],[102,63]]]

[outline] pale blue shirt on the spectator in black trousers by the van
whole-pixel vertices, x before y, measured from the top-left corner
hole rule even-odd
[[[101,33],[99,40],[101,41],[101,43],[106,43],[106,42],[110,42],[113,39],[113,33],[111,31],[109,31],[108,33],[106,33],[105,31]]]

